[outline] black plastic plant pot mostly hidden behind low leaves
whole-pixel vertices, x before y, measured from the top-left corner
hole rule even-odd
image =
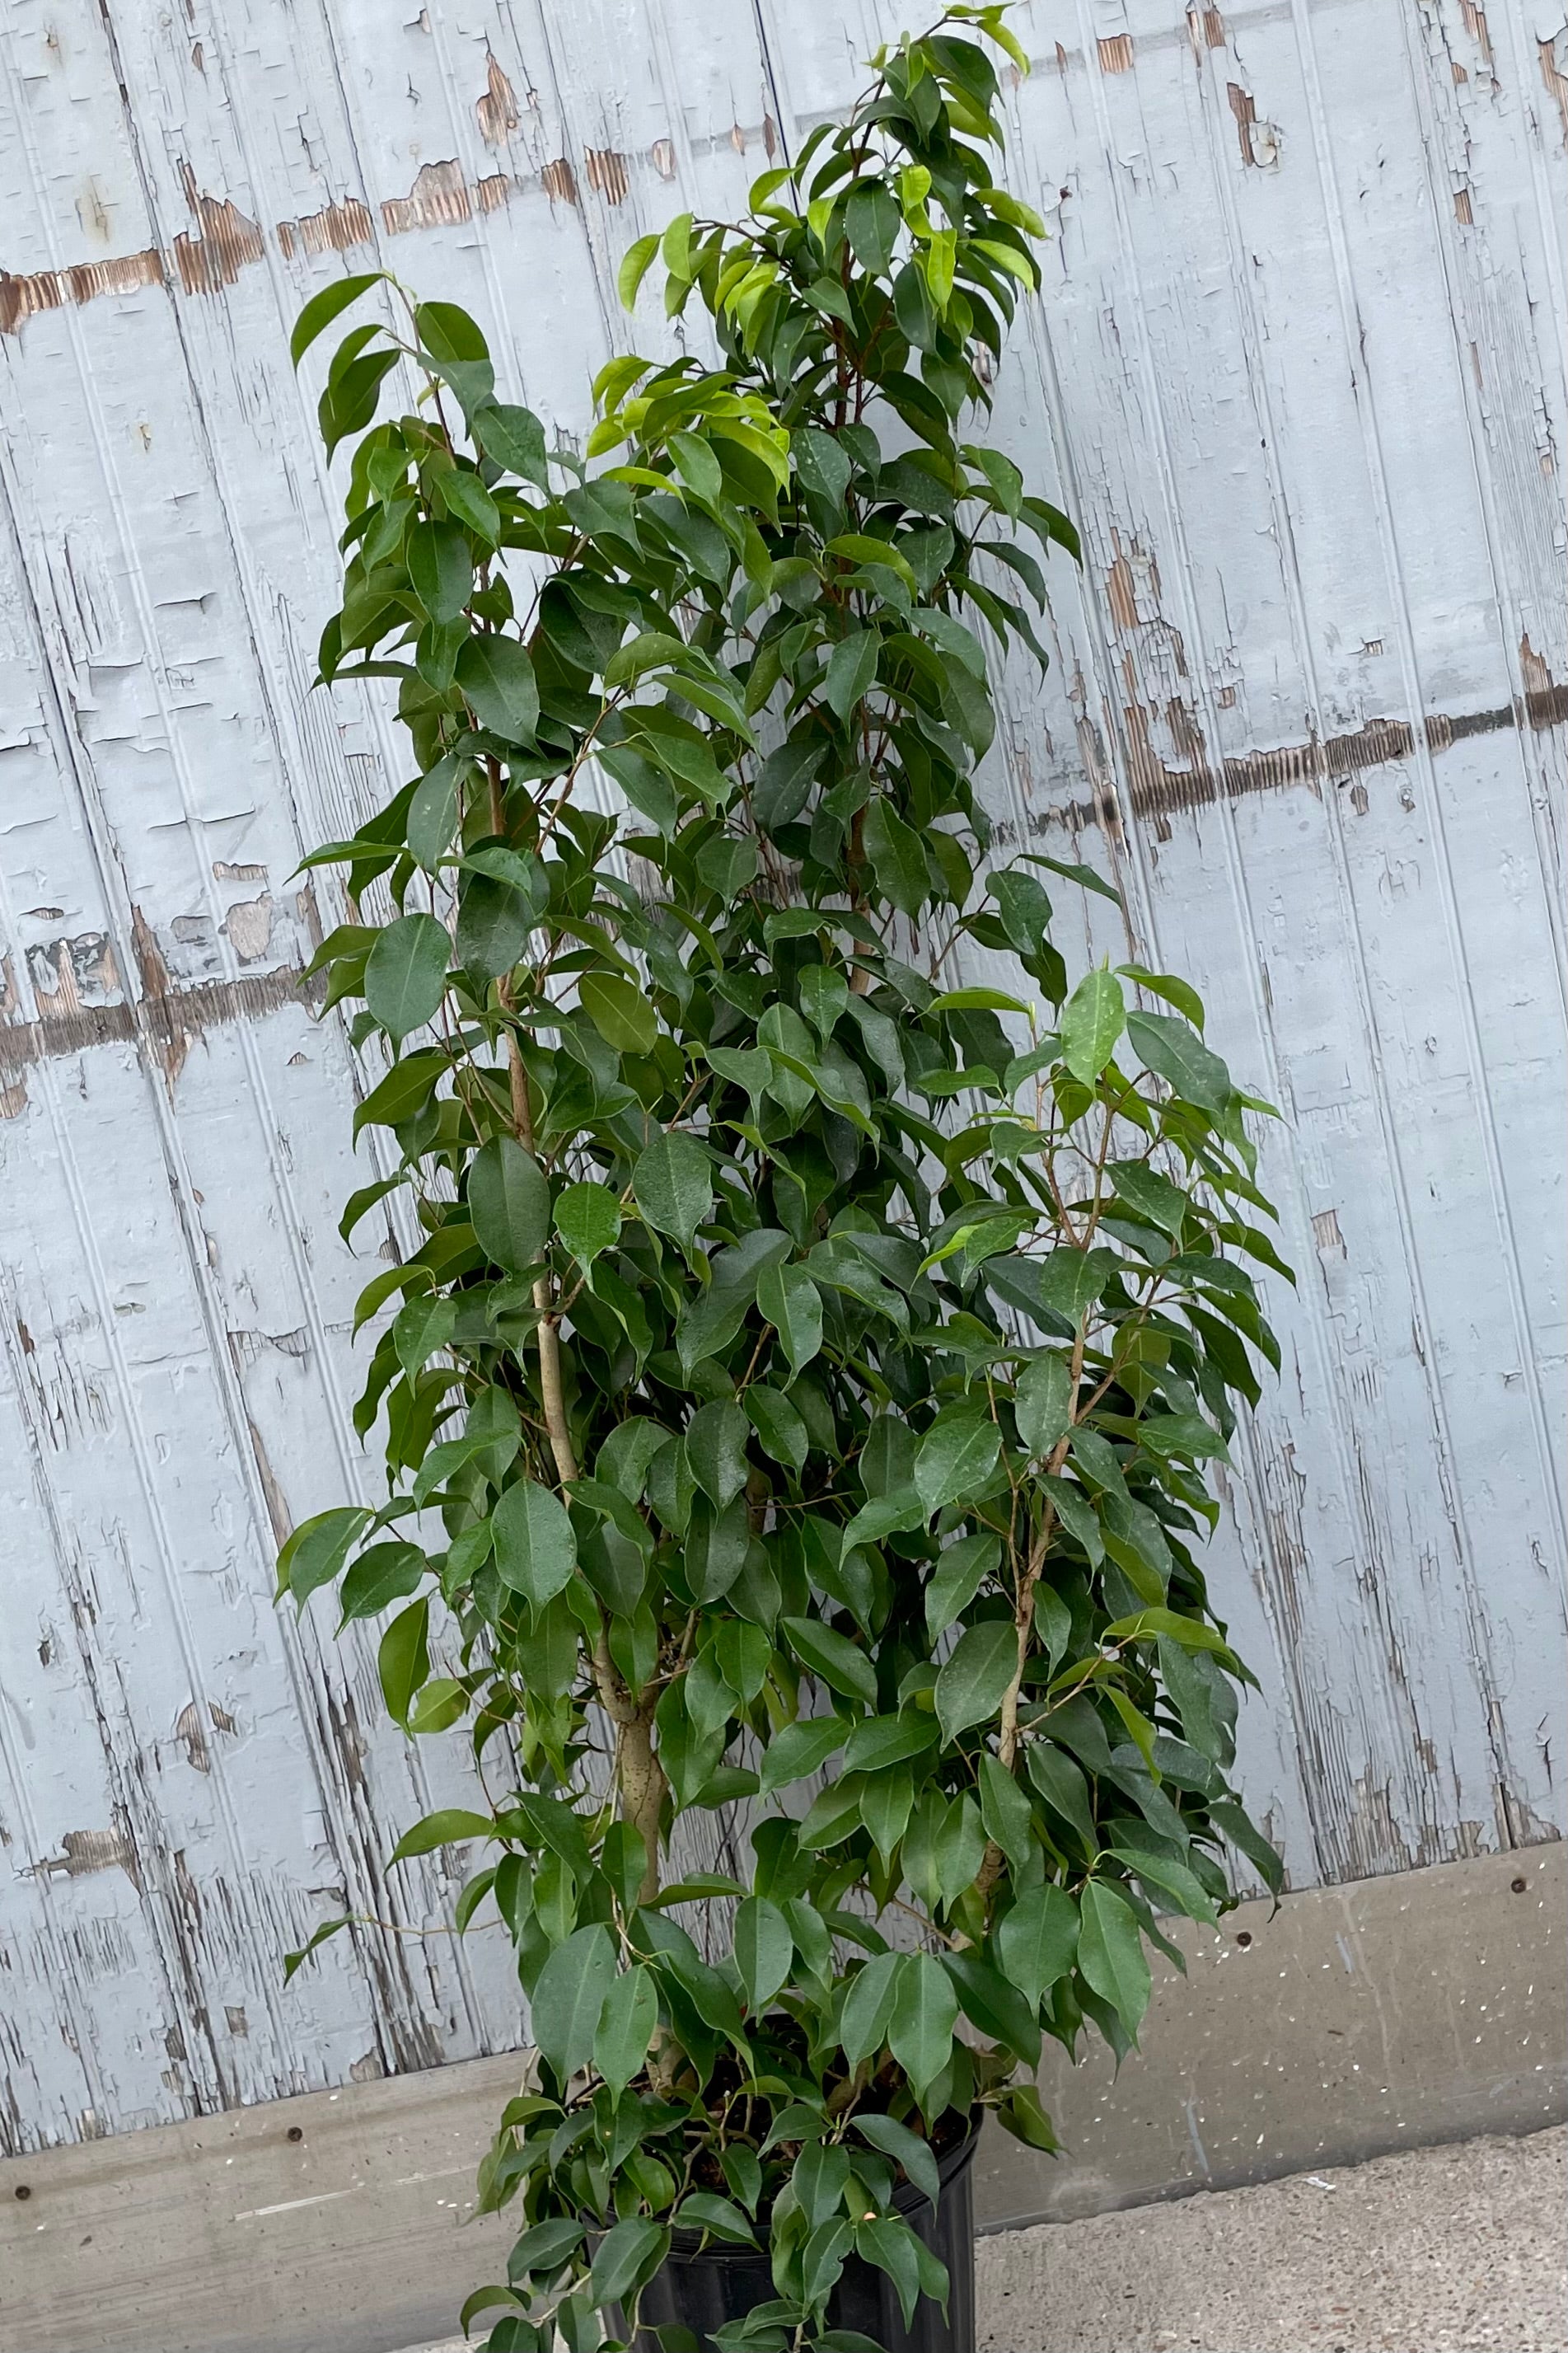
[[[860,2329],[863,2337],[884,2346],[886,2353],[973,2353],[973,2158],[978,2139],[976,2120],[969,2132],[959,2134],[938,2155],[943,2198],[936,2209],[907,2181],[893,2195],[896,2209],[910,2219],[926,2247],[947,2266],[947,2318],[943,2320],[940,2304],[922,2297],[914,2308],[914,2325],[905,2327],[893,2282],[886,2273],[851,2254],[827,2308],[832,2327]],[[682,2240],[686,2240],[686,2249],[682,2249]],[[698,2254],[696,2245],[693,2233],[675,2233],[670,2261],[642,2294],[644,2329],[637,2337],[637,2353],[658,2353],[658,2341],[651,2332],[670,2322],[693,2329],[703,2353],[710,2353],[710,2329],[722,2327],[726,2320],[738,2320],[757,2304],[773,2299],[773,2273],[766,2249],[708,2245]]]

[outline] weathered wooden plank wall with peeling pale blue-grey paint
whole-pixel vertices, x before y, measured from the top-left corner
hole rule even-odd
[[[919,12],[917,12],[919,14]],[[1084,522],[999,812],[1126,882],[1288,1125],[1215,1579],[1295,1882],[1554,1833],[1563,0],[1032,0],[1056,242],[999,431]],[[353,1071],[289,880],[390,784],[308,694],[287,329],[386,261],[581,431],[609,292],[837,111],[860,0],[12,0],[0,31],[0,2144],[517,2038],[503,1939],[280,1955],[454,1767],[273,1612],[367,1480]],[[322,908],[329,913],[329,908]],[[440,1744],[437,1744],[440,1746]]]

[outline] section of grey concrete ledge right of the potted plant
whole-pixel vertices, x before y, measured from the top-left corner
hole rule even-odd
[[[980,2148],[987,2231],[1568,2115],[1568,1849],[1526,1847],[1182,1922],[1143,2052],[1051,2052],[1044,2158]]]

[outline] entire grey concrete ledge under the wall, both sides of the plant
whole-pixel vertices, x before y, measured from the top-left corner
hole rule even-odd
[[[1566,1864],[1443,1864],[1187,1937],[1145,2057],[1046,2071],[1067,2153],[980,2153],[983,2228],[1561,2120]],[[447,2339],[503,2273],[510,2221],[458,2226],[515,2087],[515,2059],[482,2059],[5,2160],[0,2353]]]

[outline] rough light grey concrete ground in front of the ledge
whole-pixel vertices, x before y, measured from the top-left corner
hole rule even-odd
[[[1566,2177],[1559,2127],[999,2231],[980,2348],[1568,2353]]]

